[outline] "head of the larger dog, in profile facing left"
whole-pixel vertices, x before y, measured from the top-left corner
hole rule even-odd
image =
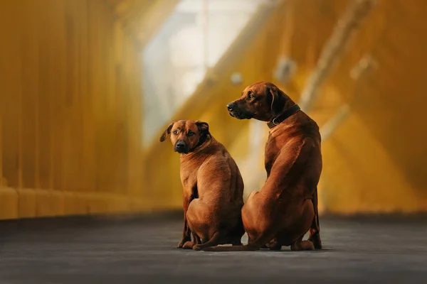
[[[270,121],[292,104],[292,99],[274,84],[258,82],[243,89],[241,97],[227,104],[227,109],[236,119]]]

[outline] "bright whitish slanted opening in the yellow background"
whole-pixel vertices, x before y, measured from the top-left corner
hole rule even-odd
[[[144,145],[204,80],[267,0],[181,0],[144,50]]]

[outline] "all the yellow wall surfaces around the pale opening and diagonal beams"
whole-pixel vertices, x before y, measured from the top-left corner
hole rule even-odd
[[[181,208],[172,145],[141,148],[139,55],[171,3],[0,1],[0,219]],[[297,100],[348,3],[288,0],[260,11],[174,119],[208,121],[231,155],[244,158],[249,124],[228,116],[226,103],[247,84],[275,82],[282,55],[297,62],[297,72],[279,86]],[[162,7],[168,12],[155,13]],[[322,146],[326,212],[427,209],[426,8],[379,0],[310,112],[322,126],[357,96]],[[367,53],[379,67],[355,89],[349,70]],[[231,84],[233,72],[243,75],[241,85]]]

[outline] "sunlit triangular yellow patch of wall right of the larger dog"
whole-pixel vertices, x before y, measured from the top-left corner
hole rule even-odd
[[[328,211],[349,214],[423,209],[399,167],[357,116],[349,116],[323,152],[325,184],[320,196]]]

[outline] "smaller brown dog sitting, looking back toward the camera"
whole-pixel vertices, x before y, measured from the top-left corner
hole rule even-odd
[[[241,246],[245,234],[241,219],[243,180],[233,158],[211,136],[206,122],[172,122],[160,142],[169,135],[174,151],[181,153],[184,189],[184,231],[178,248]]]

